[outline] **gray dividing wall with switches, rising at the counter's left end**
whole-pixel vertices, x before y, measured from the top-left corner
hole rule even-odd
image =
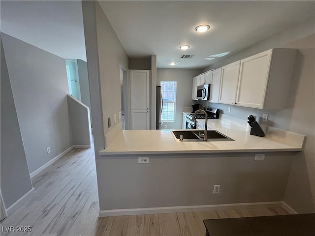
[[[121,123],[120,65],[128,69],[128,57],[99,3],[82,1],[82,11],[97,157],[99,149],[105,148],[104,136]]]

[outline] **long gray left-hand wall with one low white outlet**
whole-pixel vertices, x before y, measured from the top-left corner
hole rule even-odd
[[[64,59],[2,34],[30,173],[72,145]],[[46,148],[51,152],[47,154]]]

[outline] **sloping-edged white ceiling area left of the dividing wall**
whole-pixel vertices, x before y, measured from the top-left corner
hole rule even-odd
[[[64,59],[86,61],[81,1],[0,1],[1,31]]]

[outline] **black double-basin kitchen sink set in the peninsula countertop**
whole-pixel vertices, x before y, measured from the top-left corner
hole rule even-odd
[[[203,130],[174,130],[172,134],[176,142],[199,142],[203,141],[198,137],[199,134],[203,134]],[[183,140],[180,140],[180,135],[183,135]],[[234,141],[233,139],[221,134],[217,130],[207,130],[207,141]]]

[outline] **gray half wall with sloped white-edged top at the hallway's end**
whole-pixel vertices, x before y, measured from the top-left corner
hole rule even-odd
[[[71,95],[67,95],[69,116],[72,130],[72,144],[91,146],[90,109]]]

